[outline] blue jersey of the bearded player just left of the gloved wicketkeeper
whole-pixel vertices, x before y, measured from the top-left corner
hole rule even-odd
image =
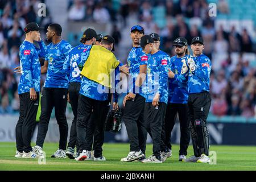
[[[188,55],[183,57],[171,57],[171,71],[175,73],[174,78],[168,78],[168,103],[188,103],[188,72],[181,75],[182,60],[187,63]]]

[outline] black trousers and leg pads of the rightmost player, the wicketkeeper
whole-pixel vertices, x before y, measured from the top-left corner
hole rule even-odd
[[[209,133],[207,117],[212,98],[209,92],[189,94],[188,119],[191,125],[191,138],[195,156],[209,155]]]

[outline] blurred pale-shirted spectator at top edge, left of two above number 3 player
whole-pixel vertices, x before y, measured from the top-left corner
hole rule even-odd
[[[68,12],[68,19],[82,20],[85,18],[85,5],[82,0],[75,0]]]

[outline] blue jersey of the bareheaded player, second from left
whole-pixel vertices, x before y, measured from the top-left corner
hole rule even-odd
[[[63,64],[71,50],[71,44],[65,40],[61,40],[57,44],[49,44],[47,46],[46,61],[48,61],[48,69],[46,73],[46,88],[68,88],[68,74],[63,74]]]

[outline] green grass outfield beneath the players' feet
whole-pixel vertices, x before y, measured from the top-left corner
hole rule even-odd
[[[34,144],[33,144],[34,145]],[[46,165],[39,165],[37,159],[16,159],[15,143],[0,143],[0,170],[126,170],[126,171],[187,171],[187,170],[256,170],[255,146],[210,146],[210,151],[217,154],[217,164],[184,163],[178,160],[179,146],[174,145],[172,156],[164,163],[120,162],[129,152],[129,144],[105,143],[105,162],[81,161],[72,159],[51,158],[58,147],[57,143],[45,143]],[[192,146],[188,148],[188,156],[192,155]],[[150,155],[152,145],[147,145],[146,155]]]

